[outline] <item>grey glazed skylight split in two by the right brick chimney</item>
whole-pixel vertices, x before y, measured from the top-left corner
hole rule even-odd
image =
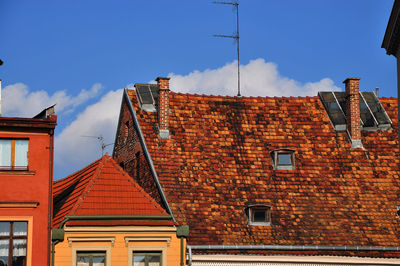
[[[346,126],[346,97],[345,92],[318,92],[326,112],[336,131],[345,131]],[[373,92],[360,92],[360,117],[363,130],[387,130],[392,121]]]

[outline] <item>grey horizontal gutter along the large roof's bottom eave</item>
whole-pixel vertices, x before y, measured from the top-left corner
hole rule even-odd
[[[400,247],[376,246],[292,246],[292,245],[188,245],[189,266],[192,250],[329,250],[329,251],[400,251]]]

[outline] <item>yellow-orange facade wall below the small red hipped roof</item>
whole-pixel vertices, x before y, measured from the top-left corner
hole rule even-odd
[[[54,258],[57,266],[177,266],[185,265],[185,245],[175,226],[74,226],[65,227]]]

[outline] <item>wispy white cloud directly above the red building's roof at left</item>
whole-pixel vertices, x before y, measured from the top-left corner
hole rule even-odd
[[[31,92],[25,84],[16,83],[2,90],[2,112],[4,116],[32,117],[44,108],[57,104],[58,114],[68,113],[96,97],[101,89],[102,85],[96,83],[89,90],[82,89],[76,96],[68,95],[66,91],[56,91],[49,95],[44,90]]]

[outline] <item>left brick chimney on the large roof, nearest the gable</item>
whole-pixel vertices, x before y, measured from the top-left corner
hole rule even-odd
[[[169,78],[158,77],[158,128],[161,139],[169,139]]]

